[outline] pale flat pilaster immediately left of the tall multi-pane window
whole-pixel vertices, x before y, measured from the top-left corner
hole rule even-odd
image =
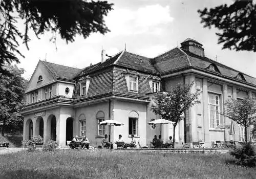
[[[207,78],[203,78],[203,125],[205,146],[210,145],[209,118],[208,118],[208,83]]]

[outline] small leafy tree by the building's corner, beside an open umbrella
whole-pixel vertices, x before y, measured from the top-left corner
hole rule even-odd
[[[161,118],[174,122],[173,148],[175,147],[175,127],[182,120],[180,117],[190,106],[195,104],[196,99],[200,95],[200,89],[196,93],[190,93],[191,84],[179,83],[171,86],[170,92],[158,92],[155,94],[154,103],[151,109]]]

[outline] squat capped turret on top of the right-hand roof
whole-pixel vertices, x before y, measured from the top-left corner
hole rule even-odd
[[[187,38],[180,44],[182,49],[185,49],[191,53],[204,57],[204,48],[202,48],[203,44],[199,43],[198,41],[191,38]]]

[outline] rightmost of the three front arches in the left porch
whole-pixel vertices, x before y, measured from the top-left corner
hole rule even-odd
[[[47,119],[47,135],[46,141],[49,139],[56,141],[56,117],[54,115],[50,115]]]

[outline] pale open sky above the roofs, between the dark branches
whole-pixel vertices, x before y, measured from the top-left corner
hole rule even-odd
[[[24,78],[29,79],[40,60],[83,69],[90,63],[101,61],[101,47],[108,55],[126,51],[154,58],[168,50],[180,47],[186,38],[203,44],[205,56],[223,63],[242,73],[256,77],[256,53],[222,50],[218,44],[215,28],[203,28],[198,9],[221,4],[232,4],[232,0],[110,0],[113,9],[105,17],[111,32],[105,35],[91,34],[87,39],[76,36],[73,43],[66,43],[59,36],[56,43],[49,39],[52,34],[40,35],[30,32],[29,50],[19,47],[25,58],[20,57],[18,66],[25,69]],[[18,24],[20,30],[25,27]],[[56,50],[57,49],[57,50]]]

